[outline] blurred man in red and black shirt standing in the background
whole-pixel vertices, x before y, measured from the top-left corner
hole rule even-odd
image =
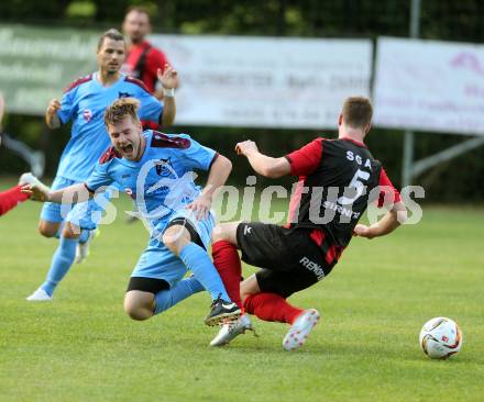
[[[123,32],[129,40],[123,72],[143,81],[157,99],[173,97],[173,91],[164,92],[157,80],[157,70],[163,72],[169,63],[162,51],[145,40],[151,30],[147,10],[138,5],[131,7],[123,22]]]

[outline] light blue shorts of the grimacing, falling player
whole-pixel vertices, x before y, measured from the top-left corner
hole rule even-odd
[[[210,213],[209,217],[196,221],[189,216],[187,210],[178,211],[166,221],[166,226],[176,217],[186,217],[200,236],[201,243],[208,249],[210,245],[211,232],[215,226],[215,217]],[[165,227],[166,227],[165,226]],[[134,267],[132,277],[163,279],[172,288],[186,275],[187,267],[175,254],[173,254],[160,239],[151,238],[146,249],[140,256]]]

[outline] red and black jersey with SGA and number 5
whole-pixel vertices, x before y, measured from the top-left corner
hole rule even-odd
[[[400,201],[382,164],[364,144],[317,138],[286,156],[299,180],[289,204],[288,227],[314,228],[311,238],[334,265],[351,241],[369,202]]]

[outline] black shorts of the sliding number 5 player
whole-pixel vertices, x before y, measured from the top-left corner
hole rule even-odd
[[[309,237],[310,231],[252,222],[238,226],[242,260],[262,268],[255,273],[261,291],[287,298],[330,272],[322,250]]]

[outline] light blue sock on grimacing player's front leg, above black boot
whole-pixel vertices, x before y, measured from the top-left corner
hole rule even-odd
[[[190,242],[182,249],[179,258],[207,289],[212,300],[220,295],[224,301],[231,301],[216,267],[204,248]]]

